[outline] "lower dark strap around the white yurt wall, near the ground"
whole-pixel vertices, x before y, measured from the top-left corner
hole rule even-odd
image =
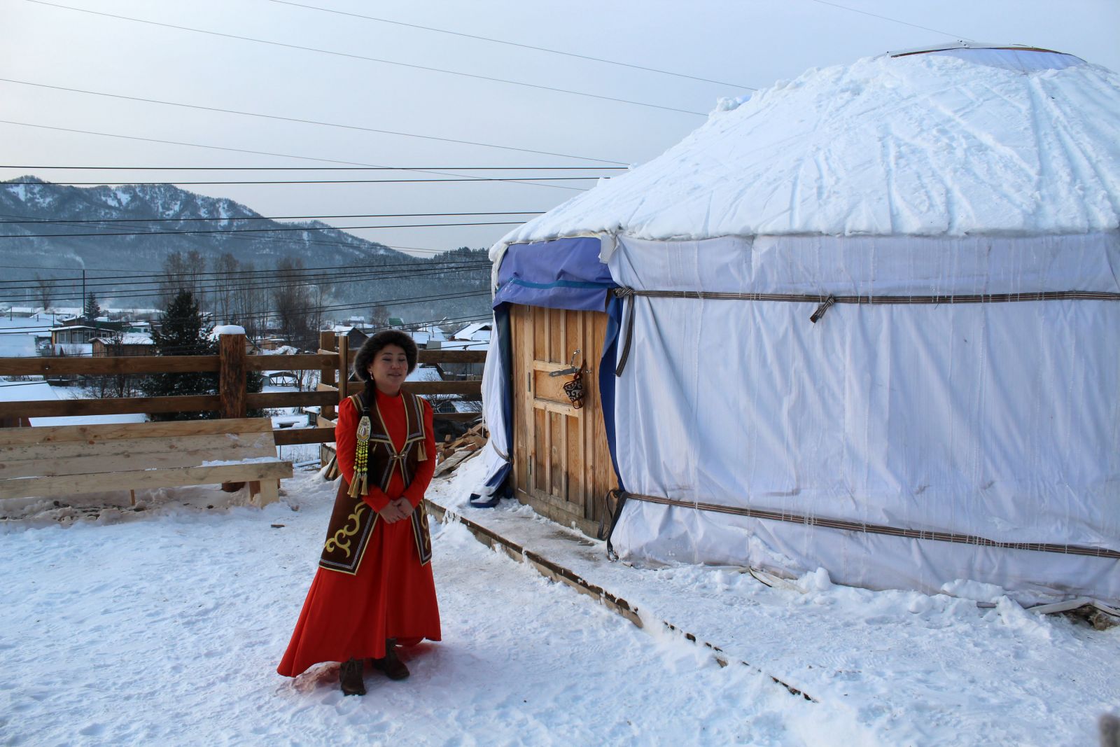
[[[1120,551],[1107,550],[1104,548],[1086,548],[1077,544],[1051,544],[1046,542],[997,542],[974,534],[955,534],[953,532],[931,532],[918,529],[897,529],[883,524],[865,524],[862,522],[850,522],[839,519],[822,519],[820,516],[805,516],[802,514],[791,514],[778,511],[764,511],[762,508],[747,508],[741,506],[722,506],[716,503],[700,503],[693,501],[680,501],[676,498],[662,498],[653,495],[642,495],[640,493],[624,493],[623,498],[656,503],[663,506],[681,506],[683,508],[696,508],[698,511],[711,511],[721,514],[734,514],[736,516],[749,516],[750,519],[768,519],[772,521],[790,522],[803,526],[823,526],[825,529],[839,529],[852,532],[870,532],[874,534],[889,534],[892,536],[904,536],[914,540],[935,540],[937,542],[956,542],[959,544],[976,544],[984,548],[1002,548],[1006,550],[1034,550],[1036,552],[1056,552],[1064,555],[1089,555],[1092,558],[1112,558],[1120,560]],[[622,501],[619,501],[622,503]],[[612,551],[608,544],[608,553]]]

